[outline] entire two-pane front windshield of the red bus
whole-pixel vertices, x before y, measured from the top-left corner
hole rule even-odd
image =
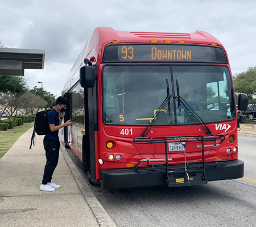
[[[167,96],[170,99],[159,110]],[[200,124],[236,118],[229,69],[220,65],[106,65],[103,69],[103,102],[106,124],[147,125],[158,111],[155,125]],[[192,110],[193,111],[192,111]],[[192,113],[191,113],[192,112]]]

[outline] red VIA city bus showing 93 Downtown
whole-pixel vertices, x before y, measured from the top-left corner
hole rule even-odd
[[[96,28],[65,81],[65,144],[101,188],[243,177],[225,48],[206,32]],[[247,108],[241,94],[238,108]]]

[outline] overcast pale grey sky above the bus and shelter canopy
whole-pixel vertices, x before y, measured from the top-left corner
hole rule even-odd
[[[0,41],[44,49],[43,70],[25,70],[32,89],[61,95],[65,77],[96,27],[118,31],[209,32],[226,48],[232,73],[256,65],[256,1],[0,0]]]

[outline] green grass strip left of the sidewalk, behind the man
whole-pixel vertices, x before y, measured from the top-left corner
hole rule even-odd
[[[14,145],[20,136],[34,126],[34,122],[26,123],[6,131],[0,131],[0,158]]]

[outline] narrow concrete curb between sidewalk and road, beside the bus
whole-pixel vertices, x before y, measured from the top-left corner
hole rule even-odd
[[[60,150],[98,224],[101,227],[117,227],[112,219],[109,217],[108,213],[102,207],[100,202],[94,196],[92,190],[90,189],[90,186],[85,181],[84,177],[81,175],[76,165],[73,163],[63,144],[60,145]]]

